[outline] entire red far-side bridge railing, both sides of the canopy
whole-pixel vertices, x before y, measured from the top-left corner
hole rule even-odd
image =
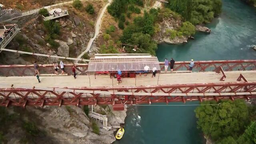
[[[175,62],[174,71],[189,70],[189,62]],[[41,74],[53,74],[54,67],[51,64],[40,64]],[[78,75],[87,75],[88,64],[66,64],[64,69],[68,74],[72,73],[72,66],[76,66]],[[216,71],[219,67],[224,71],[256,70],[256,60],[219,60],[219,61],[195,61],[193,72]],[[59,66],[60,67],[60,66]],[[164,70],[164,62],[160,62],[160,68]],[[169,67],[170,69],[170,67]],[[60,71],[60,70],[59,70]],[[34,76],[34,65],[0,65],[0,76]]]

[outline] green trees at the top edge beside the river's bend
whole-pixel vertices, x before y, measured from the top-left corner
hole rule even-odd
[[[192,24],[210,22],[221,12],[221,0],[168,0],[166,5]]]

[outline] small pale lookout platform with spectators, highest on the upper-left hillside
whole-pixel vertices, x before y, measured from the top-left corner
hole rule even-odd
[[[61,8],[48,8],[47,10],[48,10],[50,16],[46,16],[46,17],[43,16],[44,21],[53,20],[56,18],[60,18],[60,17],[69,15],[68,10],[64,10]]]

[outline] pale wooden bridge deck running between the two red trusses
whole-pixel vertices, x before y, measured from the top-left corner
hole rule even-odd
[[[225,72],[226,78],[224,82],[238,82],[237,78],[242,74],[248,82],[256,82],[256,71],[232,71]],[[157,85],[158,74],[155,78],[151,78],[151,74],[144,77],[137,76],[136,86],[148,86]],[[199,83],[223,83],[220,81],[222,74],[215,72],[192,72],[192,73],[173,73],[173,74],[160,74],[159,85],[166,84],[199,84]],[[77,76],[74,79],[73,76],[49,76],[40,77],[41,83],[38,83],[36,76],[24,76],[24,77],[0,77],[0,88],[6,88],[6,85],[1,84],[14,84],[14,87],[26,86],[26,87],[89,87],[89,76]],[[94,75],[90,76],[91,86],[111,86],[112,79],[108,75],[97,75],[96,79]],[[135,78],[122,78],[122,84],[117,85],[117,80],[113,79],[113,86],[135,86]]]

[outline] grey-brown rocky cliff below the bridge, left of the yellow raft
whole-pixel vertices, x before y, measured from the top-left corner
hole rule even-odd
[[[34,138],[34,140],[44,139],[39,144],[45,142],[50,144],[111,144],[116,140],[113,134],[115,129],[106,131],[102,128],[102,122],[97,121],[100,127],[99,135],[92,132],[92,120],[79,107],[45,106],[42,109],[27,106],[26,110],[29,114],[22,119],[36,123],[38,129],[44,132],[44,136]],[[126,117],[126,110],[112,111],[112,106],[105,108],[94,106],[94,111],[107,113],[108,126],[119,126],[124,123]],[[9,128],[5,137],[8,139],[8,144],[18,144],[24,133],[22,128],[16,126]]]

